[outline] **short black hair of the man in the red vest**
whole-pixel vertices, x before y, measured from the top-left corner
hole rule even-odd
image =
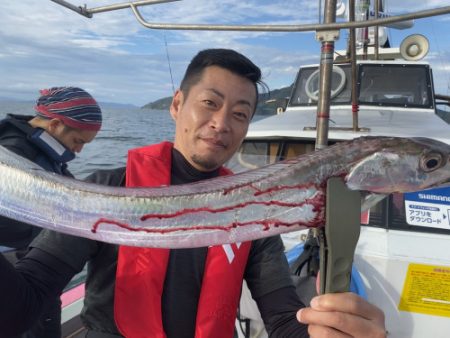
[[[250,80],[256,90],[256,109],[256,103],[258,102],[258,84],[262,84],[261,70],[246,56],[232,49],[205,49],[194,56],[186,69],[183,80],[181,80],[180,89],[184,95],[189,95],[191,87],[200,81],[203,71],[210,66],[224,68]]]

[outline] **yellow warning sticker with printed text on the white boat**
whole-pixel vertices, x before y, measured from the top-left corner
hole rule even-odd
[[[450,317],[450,267],[410,264],[398,309]]]

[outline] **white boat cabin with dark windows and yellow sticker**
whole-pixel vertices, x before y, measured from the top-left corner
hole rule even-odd
[[[428,63],[358,60],[356,82],[358,105],[352,105],[351,65],[334,65],[329,144],[366,135],[450,143]],[[249,170],[314,151],[318,88],[318,65],[301,67],[286,107],[255,119],[230,168]],[[450,189],[421,195],[429,199],[393,194],[361,217],[354,265],[369,301],[385,311],[389,337],[450,332]],[[304,238],[305,231],[283,235],[287,250]]]

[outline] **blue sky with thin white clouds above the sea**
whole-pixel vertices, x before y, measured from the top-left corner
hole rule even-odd
[[[87,8],[125,0],[68,0]],[[407,6],[406,6],[407,4]],[[448,6],[446,0],[389,0],[388,14]],[[139,7],[148,22],[215,24],[312,24],[313,0],[182,0]],[[321,6],[323,10],[323,5]],[[344,19],[339,19],[344,20]],[[391,45],[422,34],[430,49],[436,91],[450,89],[450,14],[417,19],[411,28],[389,29]],[[344,49],[341,30],[335,49]],[[192,57],[205,48],[232,48],[261,67],[270,89],[290,85],[301,65],[319,61],[314,32],[204,32],[152,30],[131,9],[85,18],[50,0],[1,1],[0,98],[35,100],[42,88],[78,86],[100,102],[142,106],[171,96]]]

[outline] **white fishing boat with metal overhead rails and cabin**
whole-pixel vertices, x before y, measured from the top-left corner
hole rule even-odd
[[[278,25],[272,28],[152,24],[142,18],[138,6],[171,0],[131,1],[91,10],[62,0],[52,1],[88,17],[131,7],[136,19],[153,29],[312,31],[367,26],[361,22],[352,26],[353,20],[348,25],[334,25],[325,20],[319,25]],[[411,14],[397,20],[388,15],[379,18],[377,7],[373,12],[375,18],[371,22],[379,25],[414,17]],[[449,12],[449,8],[423,11],[416,17]],[[441,104],[448,104],[450,98],[435,93],[431,66],[422,61],[428,48],[427,39],[413,35],[399,48],[391,48],[379,46],[377,29],[373,38],[372,46],[363,41],[356,52],[338,53],[329,69],[329,102],[326,104],[329,105],[330,117],[327,119],[325,146],[365,135],[426,136],[450,144],[450,113],[439,108]],[[349,54],[353,55],[350,60]],[[242,147],[228,163],[231,169],[236,172],[253,169],[317,149],[318,129],[321,129],[317,107],[323,102],[321,73],[320,65],[300,67],[286,104],[277,107],[273,115],[251,124]],[[450,332],[449,195],[447,188],[394,194],[358,219],[361,227],[352,278],[359,278],[360,294],[385,312],[389,337],[444,338]],[[307,231],[283,235],[287,254],[298,249],[309,237]],[[65,336],[70,337],[76,337],[77,332],[82,331],[77,315],[83,284],[76,284],[75,300],[65,301],[63,307],[63,330]],[[244,289],[239,319],[248,324],[248,328],[244,333],[245,330],[240,329],[242,322],[237,320],[237,332],[240,337],[266,337],[257,310],[255,312],[249,305],[247,313],[243,311],[243,303],[248,303],[249,297]]]

